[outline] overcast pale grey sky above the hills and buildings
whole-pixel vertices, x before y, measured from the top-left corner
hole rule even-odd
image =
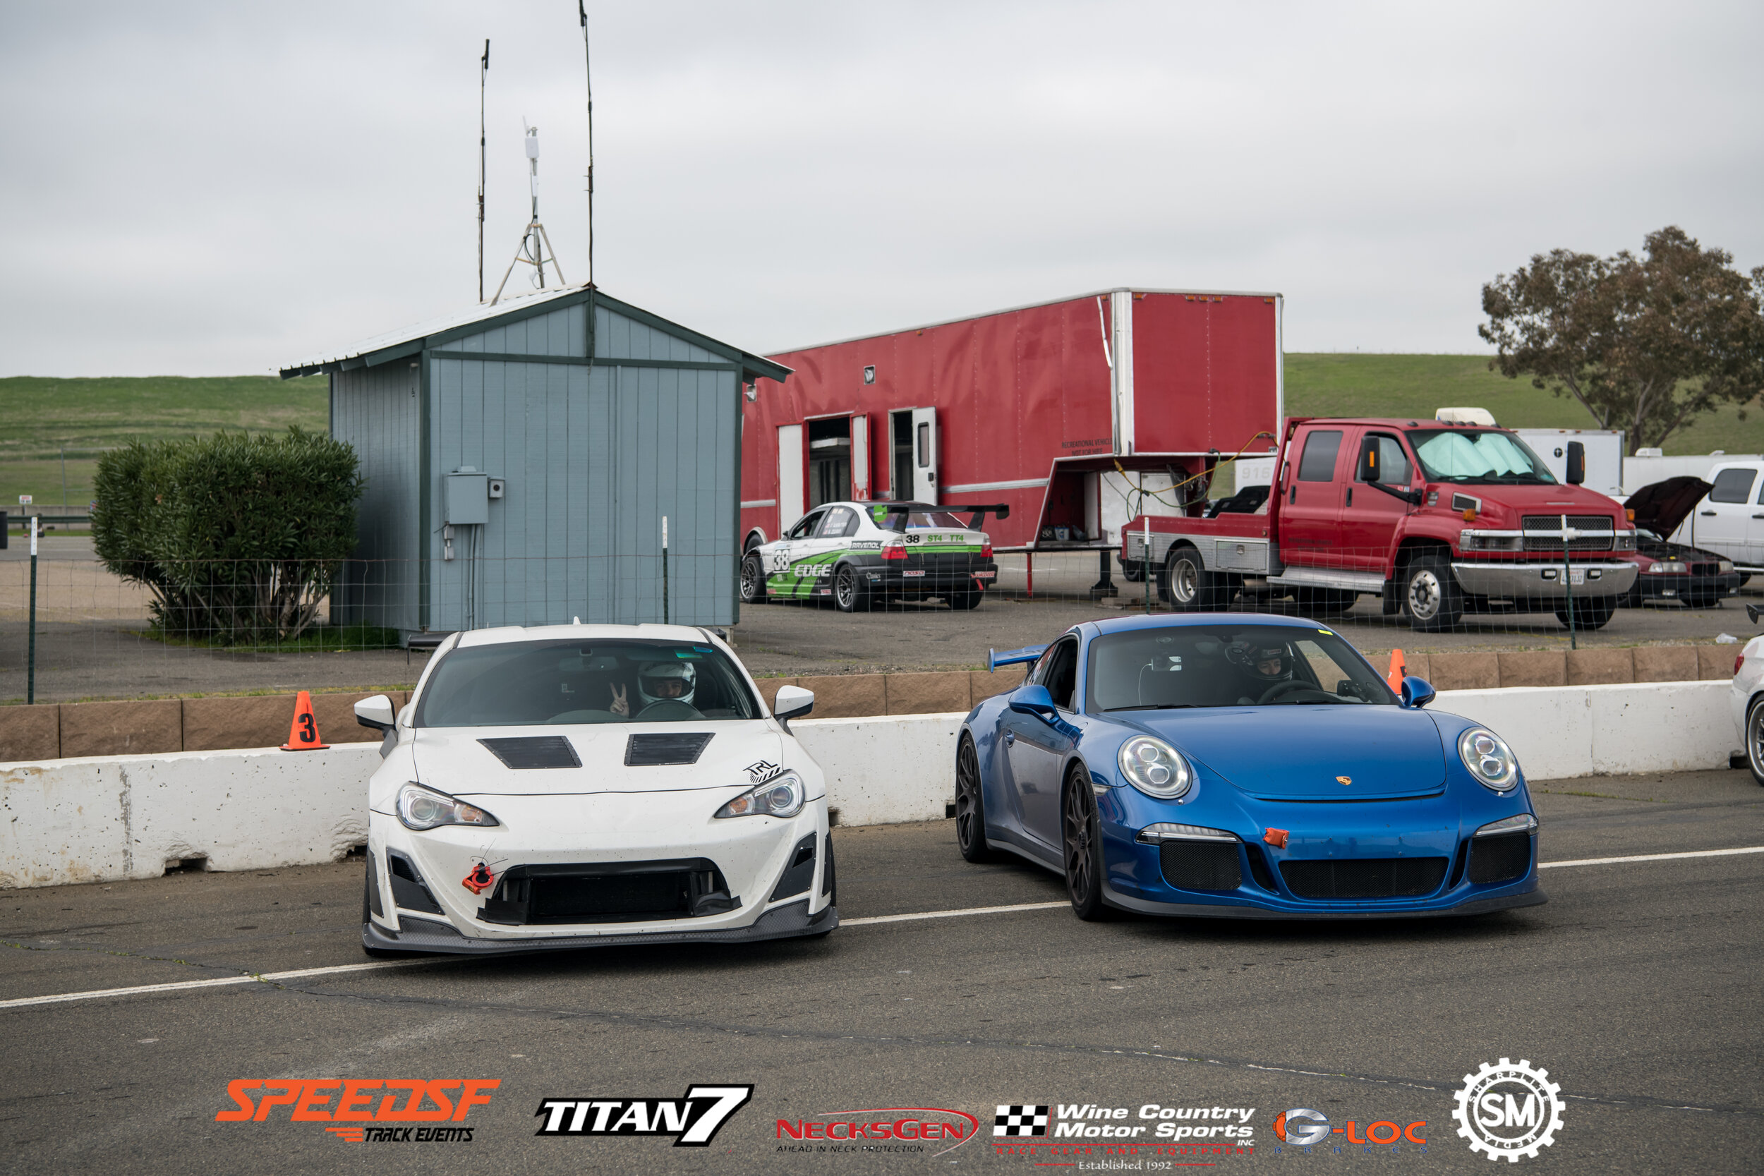
[[[1764,264],[1764,5],[589,5],[610,294],[750,351],[1110,286],[1480,351],[1480,284],[1679,224]],[[268,372],[587,277],[573,0],[0,9],[0,374]],[[519,275],[517,275],[519,280]]]

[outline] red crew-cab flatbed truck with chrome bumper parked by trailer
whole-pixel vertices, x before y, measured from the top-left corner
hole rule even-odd
[[[1272,487],[1141,515],[1120,557],[1147,559],[1148,536],[1159,596],[1184,612],[1291,596],[1330,615],[1364,592],[1431,633],[1476,612],[1568,624],[1572,599],[1573,628],[1596,629],[1635,584],[1635,529],[1566,448],[1565,483],[1492,421],[1288,418]]]

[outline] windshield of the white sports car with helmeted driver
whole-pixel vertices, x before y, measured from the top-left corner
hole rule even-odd
[[[416,703],[416,726],[757,719],[741,670],[713,645],[510,642],[455,649]]]

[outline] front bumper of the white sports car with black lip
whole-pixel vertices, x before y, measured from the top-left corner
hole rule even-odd
[[[369,815],[367,947],[522,952],[743,942],[820,934],[838,924],[824,797],[794,818],[725,820],[711,816],[729,799],[714,788],[462,799],[501,825],[415,832],[397,816]],[[480,862],[494,882],[475,892],[466,882],[478,882]],[[720,889],[709,885],[713,871]],[[700,913],[684,910],[690,901],[681,910],[607,913],[594,897],[607,892],[607,878],[644,878],[639,890],[649,883],[665,890],[663,876],[693,876],[695,896],[713,890]]]

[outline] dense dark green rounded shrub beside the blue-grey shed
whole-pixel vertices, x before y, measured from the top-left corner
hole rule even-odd
[[[99,458],[93,548],[168,633],[289,640],[355,548],[362,487],[349,444],[302,428],[132,443]]]

